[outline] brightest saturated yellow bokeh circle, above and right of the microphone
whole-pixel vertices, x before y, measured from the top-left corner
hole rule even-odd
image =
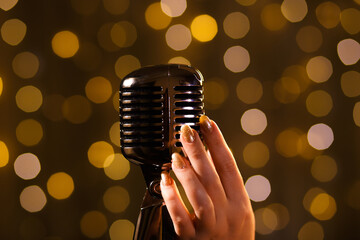
[[[207,14],[195,17],[190,29],[194,38],[200,42],[211,41],[218,31],[216,20]]]

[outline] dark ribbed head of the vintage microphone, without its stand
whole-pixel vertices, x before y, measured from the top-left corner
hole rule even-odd
[[[140,68],[120,85],[120,145],[136,164],[163,166],[181,151],[180,128],[199,131],[204,114],[203,77],[179,64]]]

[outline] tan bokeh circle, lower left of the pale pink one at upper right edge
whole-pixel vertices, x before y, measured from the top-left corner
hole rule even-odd
[[[311,80],[316,83],[322,83],[329,80],[333,73],[333,67],[329,59],[317,56],[308,61],[306,72]]]

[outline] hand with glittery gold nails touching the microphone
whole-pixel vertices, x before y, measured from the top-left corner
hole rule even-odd
[[[187,158],[172,156],[172,169],[194,209],[190,215],[169,173],[162,173],[161,192],[180,239],[255,238],[250,200],[235,159],[219,128],[208,117],[200,118],[208,147],[189,126],[181,128],[180,141]]]

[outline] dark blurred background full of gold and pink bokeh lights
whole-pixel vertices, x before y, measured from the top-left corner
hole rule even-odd
[[[0,0],[0,239],[132,239],[120,80],[184,63],[257,239],[360,239],[360,1]]]

